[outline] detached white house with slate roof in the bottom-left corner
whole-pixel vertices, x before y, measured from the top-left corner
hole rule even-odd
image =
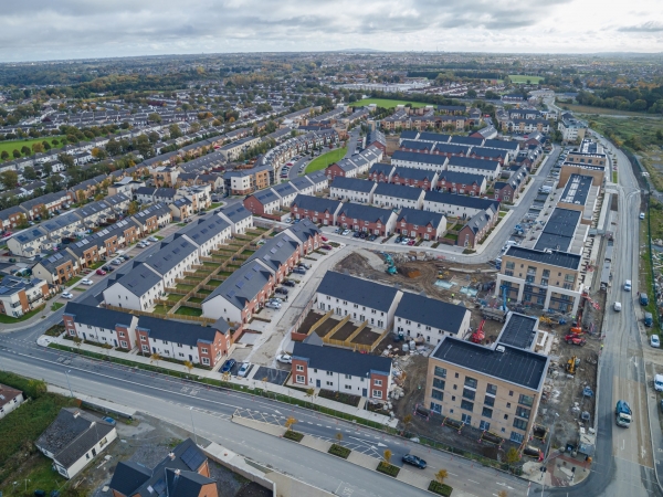
[[[53,459],[57,473],[73,478],[115,438],[113,424],[76,408],[65,408],[34,445]]]

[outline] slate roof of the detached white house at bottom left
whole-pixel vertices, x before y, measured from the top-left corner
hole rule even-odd
[[[75,408],[64,408],[35,444],[69,468],[113,430],[114,426],[101,417]]]

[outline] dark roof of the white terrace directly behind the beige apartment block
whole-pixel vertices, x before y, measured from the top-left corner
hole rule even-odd
[[[410,319],[456,335],[461,331],[463,319],[469,314],[470,309],[463,306],[403,292],[394,317]]]

